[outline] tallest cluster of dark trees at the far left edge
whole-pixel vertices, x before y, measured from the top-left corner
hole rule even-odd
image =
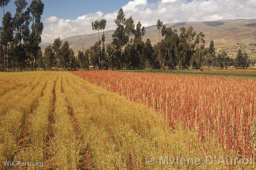
[[[0,0],[3,11],[9,2]],[[39,44],[44,28],[41,22],[44,4],[41,0],[32,0],[28,7],[25,0],[15,0],[14,3],[15,15],[4,12],[0,28],[0,69],[36,70],[38,54],[41,53]]]

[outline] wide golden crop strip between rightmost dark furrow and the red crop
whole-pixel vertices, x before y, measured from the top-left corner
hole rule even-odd
[[[182,125],[169,128],[162,115],[145,105],[136,104],[115,93],[70,77],[64,91],[84,135],[85,143],[98,169],[161,169],[145,163],[147,156],[182,156],[201,158],[204,155],[225,155],[211,141],[200,143],[193,131]],[[204,148],[208,148],[205,151]],[[233,155],[237,156],[237,155]],[[175,165],[176,168],[184,168]],[[208,166],[215,168],[216,165]],[[188,165],[186,168],[206,168]]]

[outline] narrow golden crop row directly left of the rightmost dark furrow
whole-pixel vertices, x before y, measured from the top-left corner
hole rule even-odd
[[[54,137],[50,141],[49,151],[51,156],[47,161],[46,168],[76,169],[81,146],[76,139],[72,117],[68,114],[68,103],[65,94],[62,92],[61,79],[56,82],[55,97]]]

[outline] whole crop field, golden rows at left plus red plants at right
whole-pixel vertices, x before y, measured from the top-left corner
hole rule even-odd
[[[104,71],[0,73],[0,169],[254,169],[255,84]],[[242,93],[243,86],[251,91]],[[240,110],[232,113],[234,101]]]

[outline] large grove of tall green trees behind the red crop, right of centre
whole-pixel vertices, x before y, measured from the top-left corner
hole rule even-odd
[[[92,23],[92,29],[98,30],[98,35],[99,30],[105,29],[107,21],[104,21]],[[228,57],[226,52],[216,56],[213,41],[206,48],[205,35],[202,32],[196,34],[192,26],[180,28],[178,35],[177,30],[166,27],[158,19],[159,42],[152,46],[150,39],[143,41],[145,27],[141,27],[140,21],[135,27],[132,16],[125,19],[122,8],[115,23],[113,41],[106,48],[103,31],[101,40],[99,38],[84,53],[79,51],[80,68],[88,68],[89,65],[98,69],[188,69],[190,66],[200,69],[202,65],[224,68],[234,65],[229,62],[241,60]],[[131,35],[134,35],[133,39]]]

